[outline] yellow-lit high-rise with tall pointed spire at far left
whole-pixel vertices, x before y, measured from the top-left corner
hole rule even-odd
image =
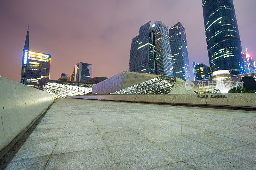
[[[40,89],[38,80],[49,80],[51,55],[29,51],[28,31],[22,55],[20,82]]]

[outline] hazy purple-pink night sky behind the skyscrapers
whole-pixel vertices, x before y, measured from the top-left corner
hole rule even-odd
[[[256,59],[256,1],[233,1],[243,51]],[[149,20],[185,27],[191,80],[193,62],[209,66],[201,0],[0,0],[0,75],[20,81],[28,25],[29,50],[52,55],[51,80],[79,61],[93,77],[129,71],[132,38]]]

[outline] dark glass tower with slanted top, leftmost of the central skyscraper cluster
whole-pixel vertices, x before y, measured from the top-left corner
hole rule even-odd
[[[132,39],[129,71],[157,74],[155,32],[150,21],[142,25],[139,35]]]

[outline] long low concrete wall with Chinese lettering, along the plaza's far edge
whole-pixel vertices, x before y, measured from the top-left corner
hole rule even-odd
[[[70,97],[95,100],[133,101],[145,103],[174,103],[188,105],[212,105],[224,107],[256,107],[256,93],[84,95]]]

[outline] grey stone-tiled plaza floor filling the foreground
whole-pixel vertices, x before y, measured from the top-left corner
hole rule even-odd
[[[57,99],[0,169],[256,169],[256,112]]]

